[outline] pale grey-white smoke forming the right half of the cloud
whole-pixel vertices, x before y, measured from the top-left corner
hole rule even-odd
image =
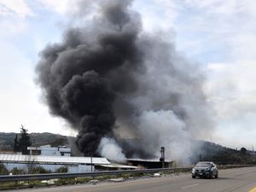
[[[118,129],[129,127],[130,136],[140,140],[136,147],[146,154],[159,159],[160,147],[165,147],[166,159],[188,164],[200,147],[192,140],[208,138],[214,126],[202,90],[203,73],[177,54],[172,44],[158,37],[149,39],[150,46],[141,44],[146,70],[137,74],[137,92],[123,97],[137,111],[126,119],[118,113]]]

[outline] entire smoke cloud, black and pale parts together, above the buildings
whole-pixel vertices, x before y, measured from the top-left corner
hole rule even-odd
[[[188,159],[190,139],[212,126],[200,70],[162,36],[143,32],[131,1],[104,1],[98,10],[40,54],[50,113],[79,132],[84,155],[108,156],[111,148],[109,159],[152,158],[165,146],[167,158]]]

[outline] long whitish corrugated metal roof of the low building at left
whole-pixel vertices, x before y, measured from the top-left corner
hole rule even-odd
[[[41,156],[24,154],[0,154],[0,162],[34,162],[46,164],[90,164],[90,157]],[[93,157],[92,164],[110,165],[106,158]]]

